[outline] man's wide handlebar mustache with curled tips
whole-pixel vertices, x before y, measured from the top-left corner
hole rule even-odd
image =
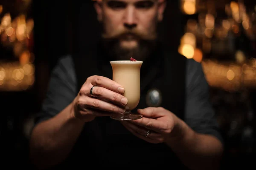
[[[137,30],[122,30],[113,32],[112,34],[102,34],[102,37],[105,39],[121,39],[129,35],[138,40],[155,40],[157,38],[156,34],[146,34]]]

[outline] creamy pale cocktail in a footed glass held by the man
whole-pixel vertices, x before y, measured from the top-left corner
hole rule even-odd
[[[132,113],[140,101],[140,67],[143,61],[111,61],[113,81],[125,88],[124,96],[128,99],[126,112],[122,115],[111,115],[115,120],[136,120],[143,116]]]

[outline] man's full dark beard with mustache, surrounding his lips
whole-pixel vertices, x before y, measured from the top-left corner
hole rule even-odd
[[[126,40],[125,36],[131,35],[137,41],[137,46],[128,48],[121,46],[120,40]],[[121,32],[116,35],[102,35],[105,52],[113,60],[130,60],[135,58],[138,61],[144,61],[156,47],[156,35],[142,35],[137,32]],[[128,41],[128,40],[126,40]]]

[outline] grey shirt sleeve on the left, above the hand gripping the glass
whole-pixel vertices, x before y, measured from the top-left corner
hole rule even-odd
[[[35,115],[35,125],[57,115],[76,97],[76,75],[70,56],[58,60],[52,70],[46,98]]]

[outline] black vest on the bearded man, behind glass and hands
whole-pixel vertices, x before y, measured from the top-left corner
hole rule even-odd
[[[100,46],[80,49],[73,55],[78,90],[91,75],[102,75],[112,79],[112,69],[107,55]],[[141,67],[141,98],[138,108],[148,107],[146,96],[150,89],[161,92],[161,107],[183,119],[185,105],[186,58],[178,52],[170,52],[160,44],[154,54]],[[84,126],[79,140],[66,161],[81,166],[120,167],[151,169],[174,167],[183,169],[172,150],[165,144],[151,144],[131,134],[119,121],[109,117],[97,117]],[[135,165],[136,164],[136,165]]]

